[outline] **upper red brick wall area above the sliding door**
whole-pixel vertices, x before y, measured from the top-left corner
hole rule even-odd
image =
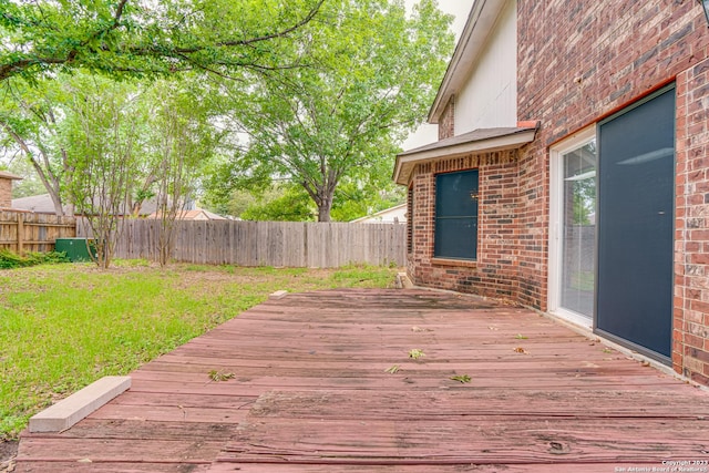
[[[709,41],[696,1],[518,2],[520,120],[545,145],[672,80]]]

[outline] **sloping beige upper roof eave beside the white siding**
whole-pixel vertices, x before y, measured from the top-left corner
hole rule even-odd
[[[445,106],[467,81],[477,60],[487,45],[500,13],[507,0],[475,0],[471,9],[461,39],[455,45],[453,58],[439,88],[438,95],[429,112],[429,123],[439,123]]]

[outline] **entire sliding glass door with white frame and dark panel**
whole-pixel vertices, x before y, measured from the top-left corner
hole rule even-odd
[[[548,310],[670,363],[675,89],[551,150]]]

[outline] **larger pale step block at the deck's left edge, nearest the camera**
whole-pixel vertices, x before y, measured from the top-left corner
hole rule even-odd
[[[30,432],[61,432],[131,387],[131,377],[104,377],[30,419]]]

